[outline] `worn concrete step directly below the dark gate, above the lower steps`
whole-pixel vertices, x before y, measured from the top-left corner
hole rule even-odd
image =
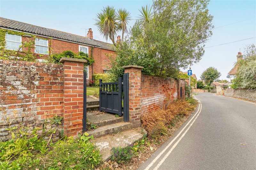
[[[122,121],[123,117],[115,117],[115,114],[100,111],[87,112],[87,124],[94,124],[100,127]]]

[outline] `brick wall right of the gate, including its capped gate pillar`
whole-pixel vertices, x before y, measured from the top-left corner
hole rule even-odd
[[[123,66],[129,73],[129,121],[132,127],[140,126],[140,116],[153,109],[162,108],[165,103],[185,97],[185,80],[160,78],[141,74],[140,66]]]

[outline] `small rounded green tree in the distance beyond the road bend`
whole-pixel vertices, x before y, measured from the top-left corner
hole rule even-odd
[[[209,67],[208,69],[204,70],[200,78],[206,82],[206,85],[210,86],[211,83],[220,76],[221,73],[216,68]]]

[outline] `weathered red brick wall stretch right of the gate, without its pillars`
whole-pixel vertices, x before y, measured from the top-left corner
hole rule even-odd
[[[178,81],[173,78],[160,78],[142,75],[142,114],[162,108],[165,103],[178,98]]]

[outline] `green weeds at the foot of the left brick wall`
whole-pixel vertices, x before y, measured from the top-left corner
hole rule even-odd
[[[37,129],[30,137],[26,129],[20,129],[19,135],[12,133],[9,141],[0,142],[0,169],[93,169],[100,164],[100,152],[88,133],[76,139],[63,137],[48,145],[38,136]]]

